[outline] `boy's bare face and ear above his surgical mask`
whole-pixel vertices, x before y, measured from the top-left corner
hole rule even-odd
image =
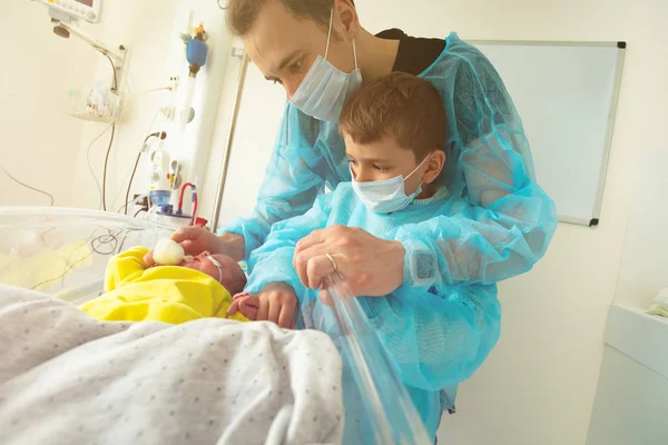
[[[351,161],[353,178],[358,182],[372,182],[402,176],[404,179],[424,159],[415,159],[415,154],[402,148],[394,137],[385,136],[377,142],[355,144],[344,135],[345,151]],[[425,181],[430,162],[424,162],[410,178],[405,179],[406,195],[413,194]]]

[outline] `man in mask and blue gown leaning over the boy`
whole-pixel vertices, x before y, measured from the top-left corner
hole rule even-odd
[[[334,269],[366,296],[441,281],[491,284],[529,270],[542,257],[557,227],[554,205],[536,182],[521,119],[503,82],[475,48],[456,34],[373,36],[361,27],[352,0],[230,0],[228,23],[289,101],[254,214],[219,237],[180,229],[174,239],[188,254],[247,258],[274,222],[302,215],[325,187],[351,180],[337,131],[343,102],[362,81],[404,71],[431,81],[443,98],[449,135],[443,184],[487,211],[475,220],[434,215],[395,240],[345,227],[313,233],[294,258],[303,284],[320,286]],[[264,314],[266,304],[261,305]]]

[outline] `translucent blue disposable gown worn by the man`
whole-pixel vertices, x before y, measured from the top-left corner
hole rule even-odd
[[[493,284],[529,270],[557,227],[552,200],[538,186],[521,119],[490,61],[456,34],[420,77],[441,93],[448,156],[441,180],[477,207],[470,216],[434,216],[397,229],[406,249],[404,284]],[[351,180],[337,122],[286,105],[276,148],[249,218],[220,231],[243,235],[246,257],[274,222],[303,215],[325,187]]]

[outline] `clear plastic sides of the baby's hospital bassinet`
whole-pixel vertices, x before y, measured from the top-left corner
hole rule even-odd
[[[101,211],[0,207],[0,283],[79,305],[101,294],[112,255],[154,246],[171,233],[155,221]],[[356,299],[341,277],[327,281],[334,307],[312,305],[302,317],[330,336],[343,360],[343,443],[430,443]]]

